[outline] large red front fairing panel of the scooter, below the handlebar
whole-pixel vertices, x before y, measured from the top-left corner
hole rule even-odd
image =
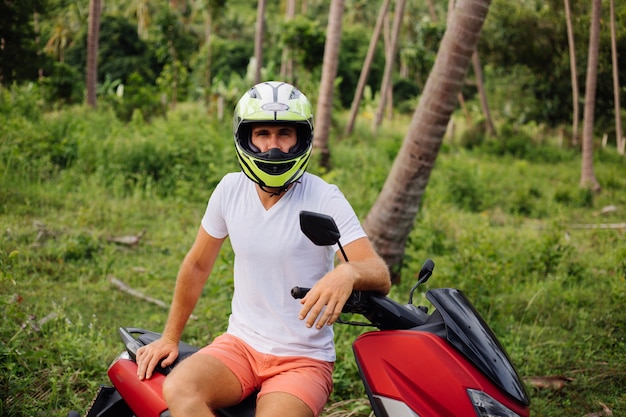
[[[529,414],[435,334],[366,333],[353,348],[368,393],[402,401],[420,417],[476,415],[468,388],[486,392],[520,416]]]

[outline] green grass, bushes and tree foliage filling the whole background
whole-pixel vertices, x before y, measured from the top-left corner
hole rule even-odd
[[[0,3],[3,416],[84,411],[122,348],[116,328],[162,329],[162,305],[206,201],[222,175],[238,169],[229,113],[257,69],[319,101],[329,0],[263,2],[260,66],[260,2],[113,0],[101,5],[94,109],[85,105],[93,2]],[[329,160],[317,155],[311,166],[339,185],[364,220],[412,126],[447,29],[448,2],[405,2],[385,93],[391,100],[375,126],[398,11],[389,7],[347,133],[382,3],[345,0]],[[527,382],[533,415],[626,415],[626,176],[616,122],[625,116],[616,103],[626,90],[614,94],[626,72],[613,73],[626,68],[626,5],[599,2],[590,154],[596,189],[580,181],[582,112],[573,110],[590,101],[591,5],[480,3],[489,6],[476,49],[480,66],[470,67],[441,132],[390,296],[405,302],[422,262],[432,258],[435,274],[416,302],[427,304],[428,287],[464,291]],[[201,345],[224,330],[231,275],[227,246],[186,341]],[[336,326],[327,416],[370,413],[350,347],[362,331]]]

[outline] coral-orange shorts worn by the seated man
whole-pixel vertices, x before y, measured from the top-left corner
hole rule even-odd
[[[257,390],[258,397],[286,392],[304,401],[318,416],[333,388],[333,362],[259,353],[228,333],[216,337],[198,353],[216,357],[235,374],[241,383],[242,400]]]

